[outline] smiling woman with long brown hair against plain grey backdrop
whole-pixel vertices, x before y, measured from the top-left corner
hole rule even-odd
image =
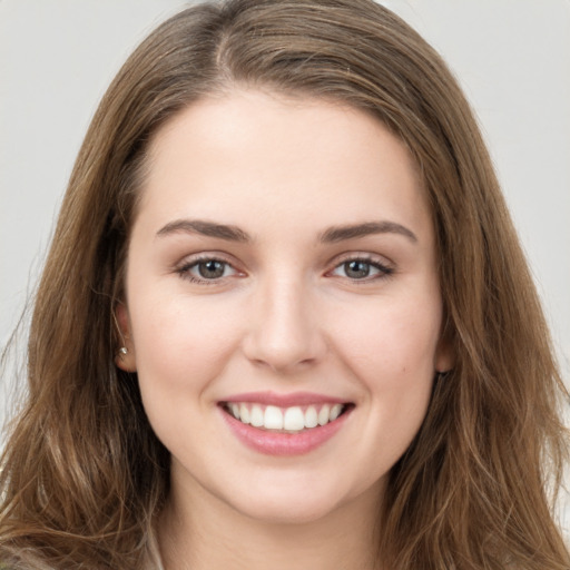
[[[160,26],[105,96],[3,458],[10,568],[568,568],[563,387],[472,114],[367,0]]]

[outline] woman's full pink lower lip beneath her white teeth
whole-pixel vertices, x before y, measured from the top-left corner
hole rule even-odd
[[[327,442],[346,422],[351,409],[333,422],[298,433],[276,433],[242,423],[220,407],[224,420],[236,438],[249,449],[265,455],[304,455]]]

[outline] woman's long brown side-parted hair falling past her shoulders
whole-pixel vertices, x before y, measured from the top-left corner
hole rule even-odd
[[[406,144],[423,177],[455,364],[391,472],[379,513],[386,568],[568,569],[550,503],[566,460],[566,392],[532,279],[456,81],[372,0],[193,7],[153,32],[109,87],[35,303],[29,396],[0,474],[0,560],[127,570],[149,556],[169,459],[136,374],[114,365],[114,312],[149,140],[233,85],[362,109]]]

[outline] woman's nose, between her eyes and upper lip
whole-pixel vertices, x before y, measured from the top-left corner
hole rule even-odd
[[[256,365],[287,373],[322,360],[326,342],[313,299],[298,281],[267,281],[255,293],[244,353]]]

